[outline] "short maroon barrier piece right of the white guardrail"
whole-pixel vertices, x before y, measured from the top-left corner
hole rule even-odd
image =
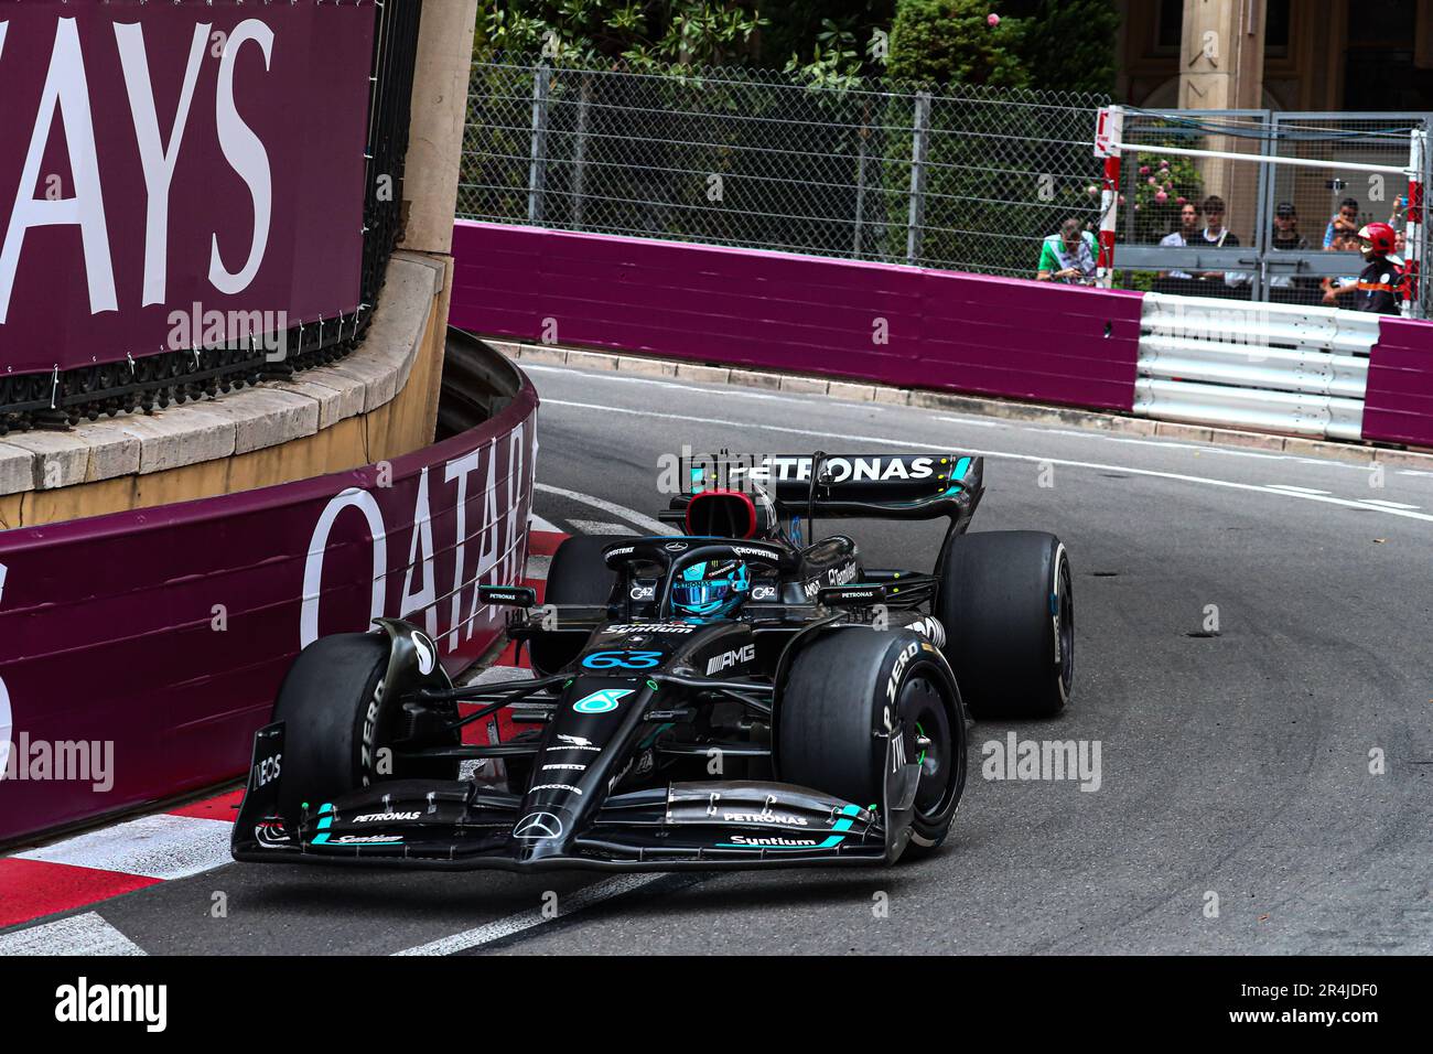
[[[1369,361],[1363,437],[1433,446],[1433,321],[1380,320]]]

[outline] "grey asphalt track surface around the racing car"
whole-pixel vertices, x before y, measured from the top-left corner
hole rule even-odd
[[[976,726],[952,837],[920,863],[616,878],[226,865],[99,905],[139,949],[1433,951],[1433,475],[529,373],[543,396],[536,511],[565,531],[646,526],[658,459],[684,443],[983,453],[974,529],[1053,531],[1069,548],[1072,707]],[[940,538],[841,529],[876,566],[929,566]],[[984,779],[984,744],[1003,751],[1009,733],[1098,744],[1098,787]]]

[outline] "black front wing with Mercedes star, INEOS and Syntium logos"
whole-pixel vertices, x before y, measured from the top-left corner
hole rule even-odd
[[[393,780],[275,813],[284,724],[261,728],[236,860],[428,870],[721,870],[894,863],[920,767],[894,751],[866,806],[785,783],[669,783],[609,797],[580,830],[560,807],[460,780]]]

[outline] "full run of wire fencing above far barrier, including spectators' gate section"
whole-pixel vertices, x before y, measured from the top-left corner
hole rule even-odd
[[[1032,278],[1040,242],[1065,219],[1098,227],[1092,135],[1106,103],[974,86],[823,89],[738,69],[476,63],[459,215]],[[1406,194],[1396,174],[1374,179],[1340,162],[1403,166],[1409,130],[1426,125],[1426,115],[1126,110],[1131,143],[1330,163],[1126,155],[1116,283],[1326,303],[1330,284],[1363,265],[1343,241],[1326,251],[1340,204],[1358,199],[1360,227],[1401,227]],[[1205,215],[1211,198],[1224,206],[1218,225]],[[1293,224],[1277,215],[1290,211]]]

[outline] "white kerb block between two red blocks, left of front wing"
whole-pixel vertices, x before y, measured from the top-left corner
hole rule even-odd
[[[228,820],[155,813],[113,827],[16,853],[21,860],[47,860],[73,868],[118,870],[156,879],[188,878],[232,863]]]

